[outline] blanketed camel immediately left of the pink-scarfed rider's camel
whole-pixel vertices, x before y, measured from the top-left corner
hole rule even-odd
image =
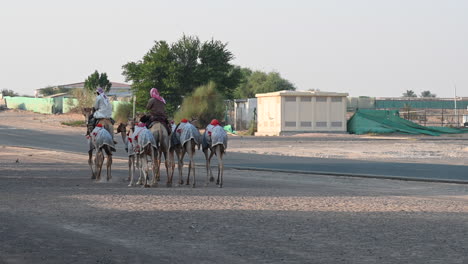
[[[156,165],[154,164],[155,161],[155,153],[158,151],[158,146],[154,139],[153,134],[147,129],[143,123],[140,123],[137,127],[135,127],[135,131],[132,134],[131,138],[133,144],[133,150],[135,151],[138,159],[140,160],[140,171],[143,171],[144,176],[144,187],[149,187],[148,179],[148,157],[151,158],[152,164],[152,172],[153,172],[153,183],[152,187],[157,187],[158,183],[155,180],[156,178]],[[138,179],[137,184],[142,184],[141,177]],[[130,186],[133,184],[131,180]]]

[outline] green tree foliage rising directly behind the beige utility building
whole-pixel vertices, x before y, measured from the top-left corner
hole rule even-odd
[[[294,85],[283,79],[278,72],[265,73],[242,68],[240,73],[242,78],[240,85],[235,90],[235,98],[252,98],[257,93],[296,90]]]

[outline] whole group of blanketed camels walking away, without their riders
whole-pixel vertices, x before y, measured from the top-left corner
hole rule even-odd
[[[90,114],[90,113],[89,113]],[[89,116],[85,112],[85,116]],[[88,120],[88,118],[86,119]],[[187,120],[182,120],[177,126],[172,126],[171,134],[166,127],[158,121],[153,122],[150,128],[146,128],[143,123],[129,120],[120,123],[116,134],[120,134],[125,149],[128,154],[128,186],[143,185],[144,187],[157,187],[160,181],[161,161],[164,163],[167,172],[166,186],[171,187],[175,171],[174,153],[178,159],[179,180],[178,186],[184,184],[182,168],[184,166],[185,155],[189,158],[188,175],[185,181],[190,185],[190,175],[192,174],[192,187],[196,185],[194,155],[196,149],[202,146],[206,158],[206,182],[214,181],[211,170],[211,159],[216,156],[218,159],[218,178],[216,184],[223,187],[223,156],[227,148],[227,134],[219,125],[217,120],[209,124],[203,135],[199,130]],[[107,157],[107,180],[111,179],[112,153],[116,151],[113,139],[113,126],[110,120],[101,119],[95,128],[88,125],[88,164],[91,168],[92,179],[101,179],[102,166]],[[95,152],[94,159],[93,153]],[[151,166],[149,165],[151,163]],[[151,169],[150,169],[151,167]],[[138,170],[139,177],[135,183],[135,172]],[[150,180],[149,172],[152,172]]]

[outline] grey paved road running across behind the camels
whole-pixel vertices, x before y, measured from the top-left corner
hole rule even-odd
[[[125,151],[118,137],[117,156],[124,157]],[[238,140],[263,140],[262,138],[231,137],[231,144]],[[271,140],[271,138],[268,138]],[[288,138],[279,137],[287,141]],[[301,140],[317,140],[301,138]],[[323,139],[330,140],[330,139]],[[369,139],[360,139],[369,140]],[[79,133],[50,134],[34,130],[12,129],[0,125],[0,145],[16,145],[36,148],[49,148],[63,151],[86,153],[86,140]],[[204,163],[204,156],[196,156],[198,164]],[[465,166],[356,161],[345,159],[321,159],[259,155],[228,152],[225,166],[239,169],[274,170],[283,172],[306,172],[315,174],[369,176],[383,178],[402,178],[414,180],[435,180],[442,182],[468,183],[468,172]]]

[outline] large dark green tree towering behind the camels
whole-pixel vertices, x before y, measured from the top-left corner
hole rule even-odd
[[[198,37],[185,35],[173,44],[155,42],[140,61],[122,67],[126,81],[132,81],[137,109],[146,110],[153,87],[166,99],[169,115],[175,112],[184,96],[210,81],[223,96],[232,98],[241,75],[230,64],[234,56],[226,46],[221,41],[201,42]]]

